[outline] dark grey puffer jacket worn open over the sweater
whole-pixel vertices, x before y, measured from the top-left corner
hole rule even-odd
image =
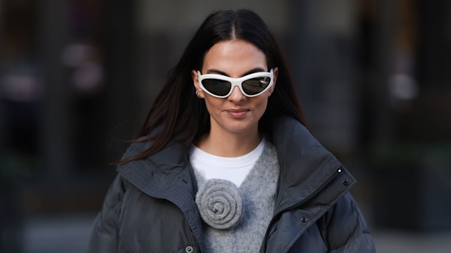
[[[280,179],[260,252],[376,252],[349,190],[355,179],[294,119],[273,131]],[[150,143],[133,143],[129,156]],[[87,252],[205,252],[188,148],[118,166]]]

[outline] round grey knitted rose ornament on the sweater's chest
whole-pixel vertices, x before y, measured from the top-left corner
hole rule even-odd
[[[205,223],[216,229],[235,226],[244,212],[240,189],[224,179],[206,181],[197,192],[196,204]]]

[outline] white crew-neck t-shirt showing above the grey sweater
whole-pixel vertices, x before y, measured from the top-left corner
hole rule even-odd
[[[195,145],[191,145],[190,163],[194,170],[204,176],[205,180],[226,179],[240,187],[263,152],[265,143],[265,138],[262,138],[257,148],[240,157],[211,155]]]

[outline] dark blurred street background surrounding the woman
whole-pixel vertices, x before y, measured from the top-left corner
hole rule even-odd
[[[268,23],[378,252],[451,252],[451,1],[426,0],[0,0],[0,252],[84,252],[109,163],[220,8]]]

